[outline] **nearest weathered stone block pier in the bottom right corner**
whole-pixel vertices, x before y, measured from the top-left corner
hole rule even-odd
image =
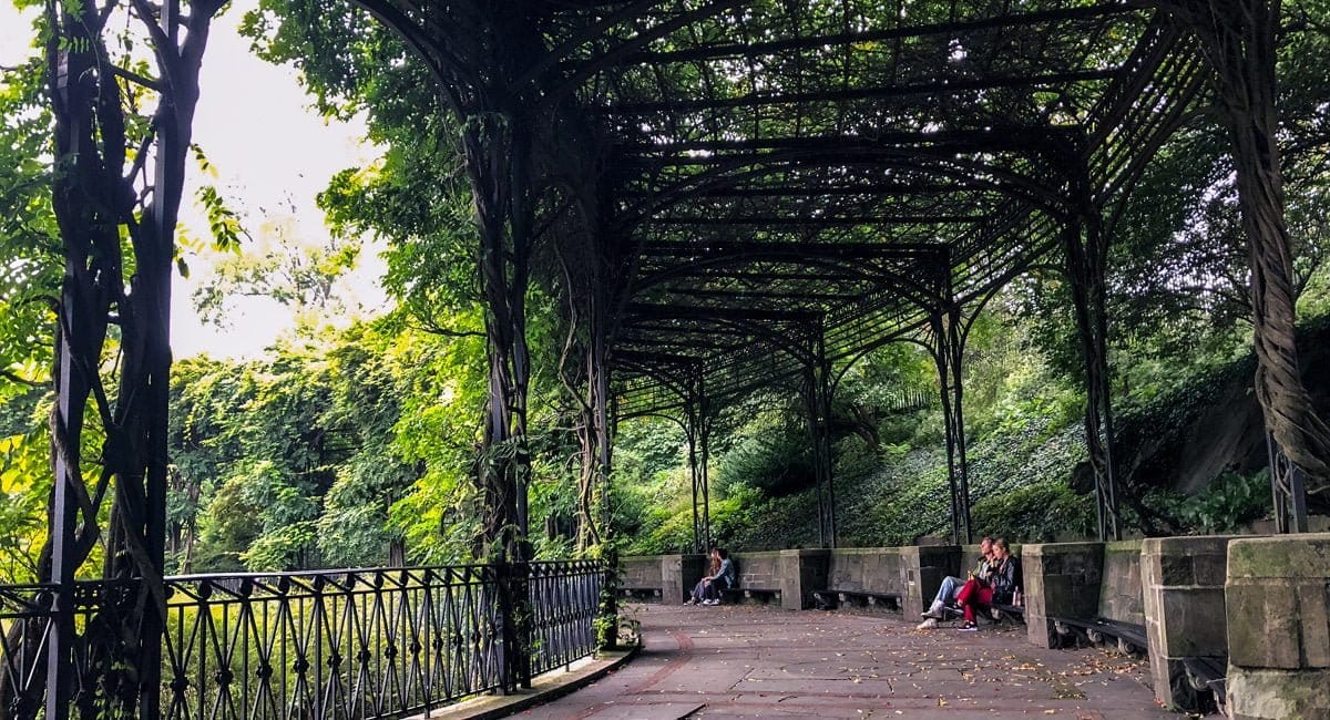
[[[1230,717],[1330,719],[1330,533],[1228,550]]]

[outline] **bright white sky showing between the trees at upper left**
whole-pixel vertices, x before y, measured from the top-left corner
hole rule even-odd
[[[182,222],[194,236],[206,236],[206,223],[189,206],[203,179],[218,186],[233,209],[245,215],[250,232],[266,219],[295,218],[299,235],[322,242],[323,213],[314,197],[329,178],[346,167],[363,167],[376,155],[363,145],[363,122],[325,124],[309,109],[297,84],[297,70],[273,66],[250,54],[237,25],[257,0],[237,0],[213,24],[200,84],[202,94],[194,117],[194,142],[207,154],[217,178],[198,178],[190,166]],[[9,0],[0,0],[0,65],[13,65],[29,54],[31,13],[20,17]],[[209,275],[206,258],[189,258],[190,279],[176,278],[172,303],[172,345],[177,359],[207,352],[214,357],[258,357],[263,348],[293,324],[291,315],[270,300],[237,299],[229,328],[203,325],[190,307],[197,283]],[[370,314],[387,303],[378,288],[382,262],[375,250],[348,278],[340,295],[348,306]]]

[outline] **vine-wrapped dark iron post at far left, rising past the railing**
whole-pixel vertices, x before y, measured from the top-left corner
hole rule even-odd
[[[152,719],[160,709],[170,275],[198,72],[221,3],[192,3],[188,16],[172,1],[156,9],[134,4],[160,76],[145,138],[128,137],[133,124],[125,112],[133,102],[121,84],[140,80],[114,72],[104,36],[109,9],[64,0],[48,0],[45,8],[60,169],[52,209],[65,276],[53,368],[51,535],[40,570],[60,590],[43,658],[48,672],[44,683],[29,685],[20,717],[36,716],[32,699],[43,692],[52,720],[68,716],[70,703],[89,717]],[[140,182],[152,191],[140,194]],[[128,279],[126,266],[133,268]],[[116,344],[109,343],[112,324],[118,325]],[[90,485],[81,462],[89,413],[104,432],[101,472]],[[104,531],[98,518],[108,497]],[[100,537],[104,585],[78,628],[73,579]],[[3,695],[9,700],[9,692]]]

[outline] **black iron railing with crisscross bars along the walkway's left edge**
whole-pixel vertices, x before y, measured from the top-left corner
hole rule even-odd
[[[166,581],[161,717],[394,717],[529,684],[595,651],[604,567],[531,565],[189,575]],[[0,587],[0,716],[36,717],[53,586]],[[80,582],[72,674],[124,583]],[[78,695],[105,677],[74,680]]]

